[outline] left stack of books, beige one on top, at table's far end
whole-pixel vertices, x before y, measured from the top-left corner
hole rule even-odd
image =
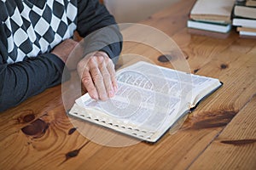
[[[227,33],[236,0],[197,0],[190,11],[187,26],[192,29]]]

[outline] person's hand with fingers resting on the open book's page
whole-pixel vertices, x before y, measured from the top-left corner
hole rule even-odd
[[[79,61],[77,70],[92,99],[106,100],[117,91],[114,65],[108,54],[99,51],[87,54]]]

